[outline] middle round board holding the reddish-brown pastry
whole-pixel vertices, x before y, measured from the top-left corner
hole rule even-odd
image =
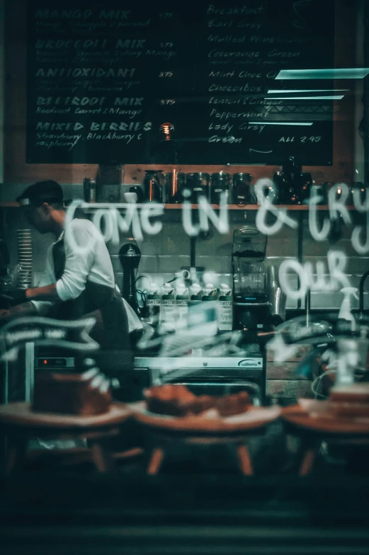
[[[178,433],[227,434],[257,430],[280,416],[280,407],[251,407],[246,413],[225,418],[203,416],[164,416],[147,411],[146,403],[139,401],[128,405],[136,420],[150,428],[171,430]]]

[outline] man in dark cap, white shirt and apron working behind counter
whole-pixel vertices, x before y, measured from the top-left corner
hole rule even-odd
[[[17,200],[30,224],[42,234],[55,234],[57,241],[47,253],[38,287],[5,292],[14,306],[1,311],[0,320],[30,314],[78,319],[93,313],[101,324],[96,338],[101,347],[129,350],[129,332],[142,326],[115,287],[113,266],[99,231],[87,219],[73,219],[66,225],[62,188],[56,181],[34,183]]]

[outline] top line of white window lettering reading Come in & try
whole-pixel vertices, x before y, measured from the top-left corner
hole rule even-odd
[[[256,212],[256,227],[262,234],[267,236],[277,234],[284,224],[291,229],[297,229],[297,221],[288,215],[288,210],[285,207],[273,205],[276,189],[271,179],[259,179],[255,185],[255,190],[259,203]],[[365,193],[365,198],[362,200],[361,195],[363,193]],[[349,189],[345,183],[338,183],[329,190],[329,217],[324,217],[324,221],[320,224],[317,205],[322,199],[314,192],[314,188],[312,189],[309,202],[309,230],[315,241],[326,240],[331,231],[331,222],[339,217],[342,218],[347,227],[352,226],[353,219],[346,207],[348,195]],[[363,190],[356,189],[353,191],[353,201],[358,212],[367,214],[365,225],[356,226],[351,234],[353,248],[358,254],[363,255],[369,253],[369,195]],[[78,207],[85,207],[82,200],[74,200],[69,206],[66,224],[74,218]],[[124,208],[123,211],[120,210],[122,208]],[[194,212],[198,212],[198,222],[193,221]],[[92,221],[103,235],[106,243],[111,241],[113,244],[118,244],[120,231],[127,233],[132,229],[132,234],[138,241],[144,239],[144,233],[147,235],[159,234],[163,229],[163,222],[158,218],[163,214],[164,205],[156,202],[147,202],[144,205],[135,205],[135,203],[128,203],[127,205],[111,204],[108,207],[96,205]],[[270,220],[271,215],[274,217],[273,222]],[[221,195],[219,213],[215,212],[205,197],[200,198],[198,209],[193,209],[190,201],[185,200],[183,202],[182,224],[188,236],[195,237],[198,236],[200,231],[208,231],[209,222],[221,234],[229,233],[227,193]],[[79,252],[81,247],[78,244],[75,247],[76,252]]]

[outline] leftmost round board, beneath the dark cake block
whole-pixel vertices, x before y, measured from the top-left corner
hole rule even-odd
[[[123,403],[112,404],[108,412],[91,416],[67,415],[59,413],[33,412],[30,403],[10,403],[0,406],[0,423],[18,425],[24,428],[100,428],[119,424],[132,416],[129,407]]]

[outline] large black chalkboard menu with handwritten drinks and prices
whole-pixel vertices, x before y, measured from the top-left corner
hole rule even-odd
[[[334,0],[32,1],[27,162],[329,165],[333,82],[276,77],[333,64]]]

